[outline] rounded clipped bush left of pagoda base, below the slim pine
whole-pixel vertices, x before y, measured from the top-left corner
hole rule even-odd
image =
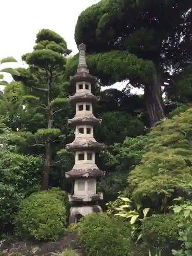
[[[31,194],[15,216],[16,233],[37,240],[58,239],[67,225],[66,204],[66,194],[58,188]]]

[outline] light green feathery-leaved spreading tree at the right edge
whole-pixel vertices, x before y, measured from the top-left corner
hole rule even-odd
[[[127,178],[132,196],[137,201],[144,200],[158,212],[166,211],[171,201],[183,196],[192,182],[191,113],[191,108],[181,110],[179,115],[154,127],[148,135],[141,163]]]

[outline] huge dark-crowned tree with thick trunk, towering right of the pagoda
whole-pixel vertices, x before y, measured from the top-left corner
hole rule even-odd
[[[132,86],[143,88],[151,126],[165,116],[161,86],[167,71],[191,61],[190,8],[189,0],[100,1],[77,21],[75,40],[92,54],[88,62],[92,74],[103,85],[129,79]],[[73,63],[69,70],[72,67]]]

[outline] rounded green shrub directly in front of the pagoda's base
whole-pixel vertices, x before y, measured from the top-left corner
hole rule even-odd
[[[105,214],[91,214],[79,221],[76,232],[87,256],[133,255],[128,222]]]

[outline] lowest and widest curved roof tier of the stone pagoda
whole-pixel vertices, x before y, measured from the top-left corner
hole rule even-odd
[[[80,168],[80,169],[72,169],[67,172],[66,178],[83,178],[83,177],[101,177],[105,174],[99,168]]]

